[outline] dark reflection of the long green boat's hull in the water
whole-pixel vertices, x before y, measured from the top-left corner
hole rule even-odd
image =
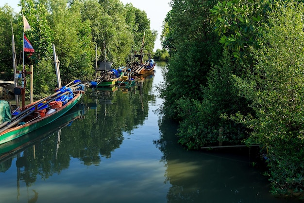
[[[70,126],[70,124],[81,118],[82,110],[70,110],[64,116],[58,118],[51,125],[47,125],[44,128],[36,129],[33,132],[27,133],[17,139],[6,142],[0,145],[0,162],[6,160],[21,150],[32,146],[36,141],[43,140],[53,132],[62,129],[64,127]]]

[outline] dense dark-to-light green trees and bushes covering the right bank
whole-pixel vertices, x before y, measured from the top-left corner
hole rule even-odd
[[[304,189],[304,4],[171,0],[161,111],[188,149],[258,144],[274,194]]]

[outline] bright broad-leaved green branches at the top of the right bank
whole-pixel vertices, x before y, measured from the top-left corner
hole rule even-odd
[[[244,59],[246,49],[259,46],[256,37],[267,9],[267,1],[264,4],[254,0],[219,1],[210,9],[220,43],[231,50],[234,57]]]

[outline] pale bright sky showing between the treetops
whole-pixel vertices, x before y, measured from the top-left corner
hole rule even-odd
[[[157,30],[158,36],[155,41],[154,49],[162,49],[160,44],[160,35],[162,33],[163,21],[166,18],[167,13],[171,10],[169,6],[170,0],[120,0],[123,4],[132,3],[134,7],[144,10],[147,13],[147,17],[150,19],[150,26],[152,30]],[[20,11],[18,7],[19,0],[0,0],[0,6],[5,3],[13,7],[16,12]]]

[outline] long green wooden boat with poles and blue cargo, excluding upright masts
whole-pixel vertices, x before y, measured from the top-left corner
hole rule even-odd
[[[24,106],[13,118],[8,115],[10,112],[7,113],[8,117],[0,124],[0,144],[46,126],[68,112],[84,92],[84,86],[78,85],[76,82],[76,87],[61,88],[51,96]],[[7,105],[3,103],[6,109]]]

